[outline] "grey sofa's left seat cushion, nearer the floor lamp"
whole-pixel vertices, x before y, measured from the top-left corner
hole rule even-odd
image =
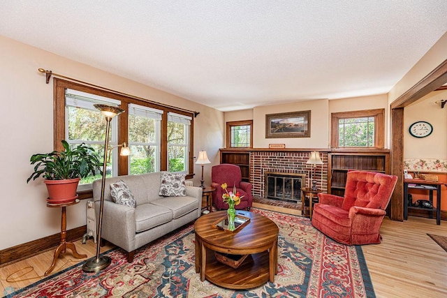
[[[136,232],[152,229],[173,220],[173,211],[154,204],[140,204],[135,208]]]

